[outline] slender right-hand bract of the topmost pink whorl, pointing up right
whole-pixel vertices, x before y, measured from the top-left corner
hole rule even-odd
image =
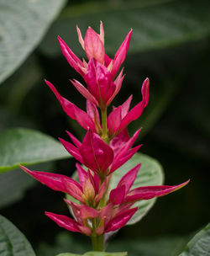
[[[129,31],[129,34],[126,36],[125,40],[123,40],[123,44],[120,45],[118,51],[116,52],[116,54],[114,56],[113,70],[112,70],[113,77],[118,72],[118,69],[121,66],[121,64],[123,63],[125,56],[127,54],[127,51],[129,50],[129,41],[130,41],[132,32],[133,32],[133,30],[131,29]]]

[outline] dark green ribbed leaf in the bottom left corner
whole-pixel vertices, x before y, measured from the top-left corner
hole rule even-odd
[[[1,256],[35,256],[24,234],[3,216],[0,216],[0,241]]]

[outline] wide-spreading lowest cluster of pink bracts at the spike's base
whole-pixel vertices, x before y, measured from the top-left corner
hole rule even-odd
[[[134,202],[167,195],[181,189],[189,182],[188,180],[176,186],[147,186],[130,190],[139,171],[139,163],[119,180],[117,188],[111,190],[106,205],[101,207],[100,200],[107,191],[107,179],[104,179],[101,184],[96,173],[92,174],[89,170],[86,171],[79,164],[76,164],[79,183],[65,175],[34,172],[23,166],[21,168],[50,189],[67,193],[81,203],[78,205],[65,199],[76,220],[51,212],[45,212],[45,214],[60,227],[71,232],[81,232],[87,236],[91,236],[92,232],[96,232],[99,236],[118,230],[138,210],[138,207],[131,208]],[[97,227],[92,226],[93,219],[97,219]]]

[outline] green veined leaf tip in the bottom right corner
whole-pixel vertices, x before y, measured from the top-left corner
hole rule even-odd
[[[204,255],[210,255],[210,223],[187,243],[185,250],[180,254],[180,256]]]

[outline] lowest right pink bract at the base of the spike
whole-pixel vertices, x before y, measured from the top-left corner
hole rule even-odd
[[[115,231],[123,227],[137,210],[138,207],[135,207],[133,209],[129,209],[128,211],[123,211],[122,213],[118,214],[118,216],[115,216],[111,221],[108,222],[105,232]]]

